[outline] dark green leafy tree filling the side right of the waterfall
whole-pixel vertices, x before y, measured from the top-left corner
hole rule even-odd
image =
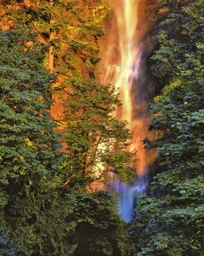
[[[155,196],[142,197],[135,210],[138,255],[204,255],[202,6],[190,1],[169,15],[157,37],[152,68],[168,76],[169,85],[150,107],[150,129],[161,133],[157,141],[145,141],[147,148],[158,147],[159,172]]]

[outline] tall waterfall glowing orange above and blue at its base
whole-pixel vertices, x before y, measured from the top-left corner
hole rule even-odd
[[[141,36],[141,25],[138,24],[138,0],[115,0],[112,8],[113,19],[107,28],[108,49],[104,49],[103,84],[109,82],[119,88],[120,99],[123,106],[115,113],[118,119],[127,120],[128,129],[132,133],[132,144],[129,150],[137,149],[138,180],[134,186],[112,181],[112,187],[123,194],[119,197],[120,213],[125,221],[131,219],[135,205],[135,194],[144,193],[148,186],[147,166],[148,155],[143,149],[141,140],[147,137],[146,126],[148,115],[146,101],[148,89],[144,80],[144,37]],[[106,43],[107,44],[107,43]],[[146,91],[145,91],[146,90]]]

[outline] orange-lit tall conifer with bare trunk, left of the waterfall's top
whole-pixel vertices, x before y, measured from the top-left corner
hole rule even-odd
[[[10,26],[18,22],[38,31],[39,40],[49,45],[49,66],[61,74],[58,76],[60,82],[64,76],[73,79],[99,73],[98,39],[104,35],[100,23],[106,14],[106,1],[32,0],[30,5],[18,1],[16,5],[1,7],[2,26],[5,21]]]

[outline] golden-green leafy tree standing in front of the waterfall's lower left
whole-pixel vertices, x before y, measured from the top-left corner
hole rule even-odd
[[[66,80],[62,86],[65,83]],[[108,172],[114,172],[124,181],[131,179],[135,169],[129,164],[135,151],[126,151],[131,135],[125,121],[110,115],[115,105],[120,105],[115,89],[94,79],[72,83],[64,101],[66,184],[86,187],[94,181],[103,181]]]

